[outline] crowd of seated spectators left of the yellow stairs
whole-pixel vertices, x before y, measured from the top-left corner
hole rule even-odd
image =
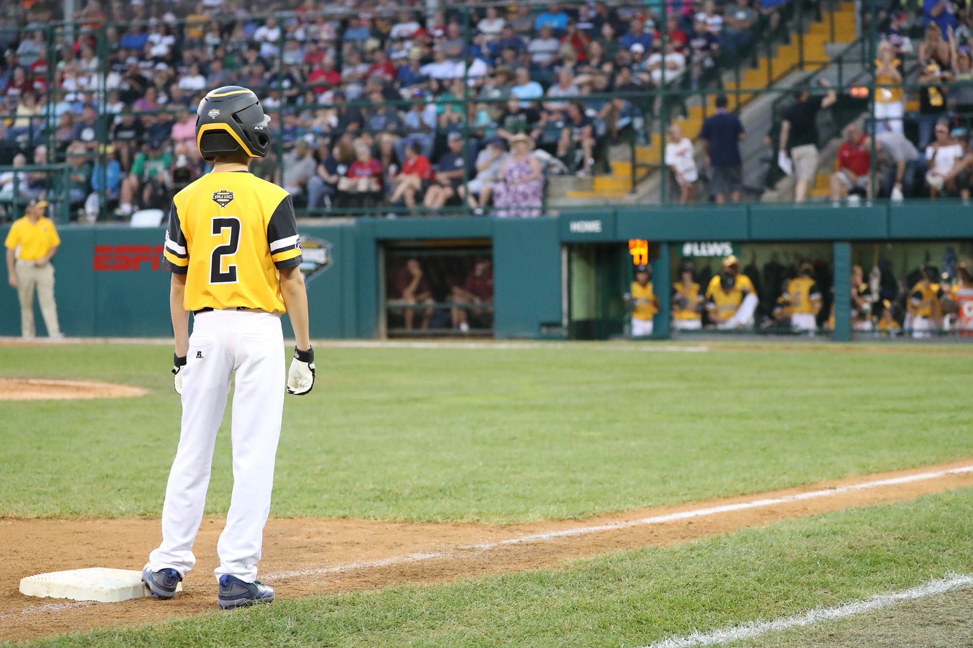
[[[164,207],[206,170],[199,99],[240,85],[282,145],[254,172],[309,213],[465,203],[532,216],[548,172],[607,167],[608,147],[658,108],[651,90],[698,87],[777,21],[776,4],[685,0],[661,16],[600,1],[430,12],[413,0],[87,0],[70,28],[45,28],[61,16],[41,0],[0,18],[0,164],[36,162],[42,146],[46,162],[70,164],[58,182],[72,214]]]

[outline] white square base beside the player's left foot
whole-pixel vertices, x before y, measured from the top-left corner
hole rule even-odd
[[[176,592],[181,590],[182,583],[176,586]],[[52,571],[47,574],[27,576],[20,579],[20,594],[96,600],[102,603],[151,595],[149,589],[142,585],[142,572],[103,567]]]

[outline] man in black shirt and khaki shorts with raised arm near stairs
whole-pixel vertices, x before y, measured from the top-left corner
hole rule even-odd
[[[827,88],[823,97],[811,97],[811,92],[801,90],[794,95],[795,102],[787,108],[780,123],[780,155],[794,162],[794,200],[804,202],[808,199],[808,187],[817,175],[817,111],[829,108],[838,100],[838,95],[828,82],[819,82]]]

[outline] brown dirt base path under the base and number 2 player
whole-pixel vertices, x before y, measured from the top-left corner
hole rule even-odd
[[[267,526],[261,577],[277,589],[280,598],[294,598],[552,566],[571,558],[671,545],[745,526],[973,486],[973,471],[877,483],[971,464],[973,460],[957,461],[758,495],[641,509],[583,522],[501,526],[272,519]],[[853,485],[863,487],[843,489]],[[841,490],[822,493],[832,488]],[[807,496],[794,499],[802,494]],[[693,512],[692,517],[680,515],[686,512]],[[19,580],[80,567],[141,568],[159,541],[159,522],[130,518],[0,520],[0,536],[4,538],[0,565],[6,575],[0,590],[0,639],[134,626],[216,610],[212,569],[219,563],[215,549],[222,526],[218,519],[203,522],[196,545],[197,569],[187,576],[185,592],[173,600],[83,603],[24,596],[18,593]],[[524,538],[528,535],[530,538]]]

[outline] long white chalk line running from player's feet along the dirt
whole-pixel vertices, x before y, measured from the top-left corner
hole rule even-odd
[[[836,486],[834,488],[824,488],[821,490],[811,490],[809,492],[800,492],[793,495],[784,495],[782,497],[770,497],[765,499],[755,499],[748,502],[738,502],[737,504],[724,504],[722,506],[711,506],[703,509],[691,509],[689,511],[680,511],[678,513],[669,513],[663,516],[654,516],[651,518],[642,518],[641,520],[629,520],[624,522],[607,522],[604,524],[593,524],[590,526],[575,526],[572,528],[563,528],[557,531],[544,531],[542,533],[530,533],[528,535],[521,535],[516,538],[507,538],[505,540],[498,540],[495,542],[484,542],[480,544],[472,545],[459,545],[457,547],[452,547],[449,549],[444,549],[435,552],[428,553],[417,553],[417,554],[405,554],[401,556],[391,556],[389,558],[380,558],[378,560],[362,560],[358,562],[347,562],[332,567],[319,567],[312,569],[302,569],[298,571],[287,571],[287,572],[277,572],[272,573],[268,578],[294,578],[296,576],[314,576],[314,575],[326,575],[326,574],[338,574],[347,571],[354,571],[357,569],[370,569],[377,567],[387,567],[394,564],[405,564],[409,562],[421,562],[424,560],[437,560],[442,558],[450,558],[456,554],[463,552],[486,552],[492,549],[497,549],[500,547],[505,547],[508,545],[519,545],[530,542],[545,542],[548,540],[554,540],[557,538],[565,538],[576,535],[589,535],[592,533],[603,533],[605,531],[615,531],[618,529],[631,528],[632,526],[647,526],[652,524],[662,524],[665,522],[678,522],[681,520],[691,520],[693,518],[706,518],[709,516],[720,515],[722,513],[733,513],[735,511],[745,511],[747,509],[759,509],[768,506],[775,506],[777,504],[787,504],[789,502],[799,502],[808,499],[817,499],[820,497],[830,497],[833,495],[840,495],[846,492],[853,492],[856,490],[866,490],[868,488],[881,488],[883,486],[898,486],[901,484],[911,484],[913,482],[922,482],[926,480],[934,480],[940,477],[946,477],[947,475],[959,475],[964,473],[973,473],[973,466],[960,466],[958,468],[950,468],[947,470],[937,470],[927,473],[917,473],[916,475],[906,475],[904,477],[891,477],[884,480],[874,480],[872,482],[863,482],[861,484],[853,484],[850,486]]]

